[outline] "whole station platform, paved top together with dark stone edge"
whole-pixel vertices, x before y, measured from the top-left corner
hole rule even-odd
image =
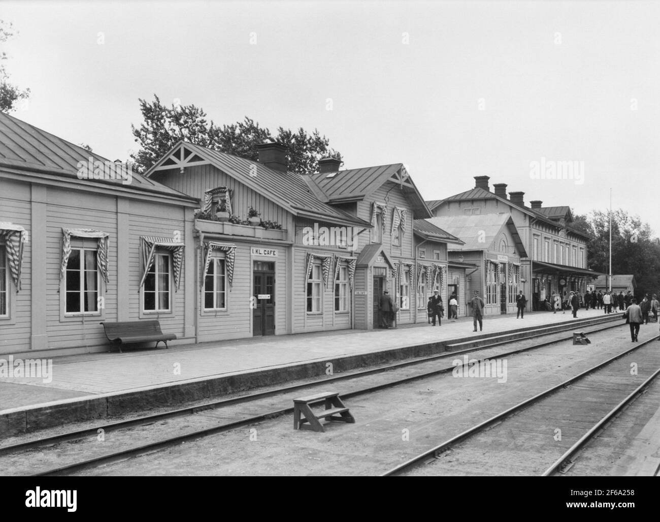
[[[608,316],[598,309],[578,312],[578,319],[597,317]],[[609,317],[620,318],[620,312]],[[473,332],[471,317],[444,318],[435,327],[424,323],[53,357],[47,379],[0,378],[0,437],[432,355],[454,342],[496,332],[513,338],[516,330],[573,320],[568,311],[486,316],[483,331]]]

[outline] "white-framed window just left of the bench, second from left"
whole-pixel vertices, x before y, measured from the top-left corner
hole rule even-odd
[[[98,314],[96,249],[71,248],[65,278],[65,313]]]

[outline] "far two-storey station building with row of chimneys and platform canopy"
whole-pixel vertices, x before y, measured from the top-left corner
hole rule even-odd
[[[520,260],[520,281],[533,310],[538,310],[539,303],[550,299],[553,292],[584,293],[600,274],[587,268],[589,237],[572,226],[570,208],[544,207],[539,200],[527,206],[524,192],[509,192],[507,197],[507,185],[494,184],[491,191],[489,179],[475,176],[474,188],[430,201],[428,206],[436,217],[511,215],[527,252]]]

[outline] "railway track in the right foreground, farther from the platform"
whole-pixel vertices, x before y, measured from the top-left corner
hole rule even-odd
[[[632,366],[628,365],[635,365],[640,377],[644,377],[641,383],[640,379],[630,378],[628,369]],[[383,476],[515,474],[512,456],[502,451],[512,433],[515,447],[523,449],[524,465],[517,461],[515,471],[523,466],[525,474],[533,474],[532,470],[543,476],[562,474],[573,465],[572,459],[585,443],[659,375],[656,336],[519,402],[391,468]],[[567,449],[560,451],[564,448]],[[554,458],[548,460],[552,455]],[[543,472],[538,472],[539,466]]]

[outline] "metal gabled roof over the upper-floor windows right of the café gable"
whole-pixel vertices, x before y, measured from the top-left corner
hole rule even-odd
[[[417,190],[413,179],[403,163],[378,167],[349,168],[337,172],[320,172],[305,176],[327,196],[330,203],[361,201],[368,198],[385,182],[401,185],[401,190],[411,203],[415,217],[430,217],[431,213],[424,198]]]

